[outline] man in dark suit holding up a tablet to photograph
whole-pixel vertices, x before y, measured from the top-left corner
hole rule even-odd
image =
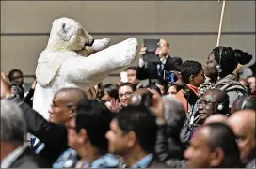
[[[148,54],[147,46],[143,45],[140,49],[139,55],[144,56]],[[180,57],[171,57],[169,55],[169,43],[167,40],[160,38],[157,43],[157,49],[154,52],[159,61],[147,61],[143,57],[138,60],[138,67],[136,70],[136,77],[139,80],[149,79],[152,84],[155,79],[163,79],[164,70],[179,71],[183,60]]]

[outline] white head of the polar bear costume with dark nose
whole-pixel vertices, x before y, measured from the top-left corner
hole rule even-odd
[[[94,39],[83,26],[70,18],[59,18],[53,22],[47,49],[52,51],[79,52],[92,46]]]

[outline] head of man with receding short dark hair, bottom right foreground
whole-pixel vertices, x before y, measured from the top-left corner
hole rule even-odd
[[[235,135],[222,123],[202,125],[193,134],[184,158],[189,168],[236,168],[241,162]]]

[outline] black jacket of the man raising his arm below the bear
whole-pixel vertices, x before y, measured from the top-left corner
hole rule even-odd
[[[45,144],[39,153],[40,157],[52,164],[68,148],[67,128],[64,125],[48,122],[22,100],[17,98],[14,100],[19,103],[24,112],[27,131]]]

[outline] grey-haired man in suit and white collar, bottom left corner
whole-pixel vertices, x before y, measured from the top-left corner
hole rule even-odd
[[[19,105],[1,99],[1,168],[49,167],[25,144],[23,115]]]

